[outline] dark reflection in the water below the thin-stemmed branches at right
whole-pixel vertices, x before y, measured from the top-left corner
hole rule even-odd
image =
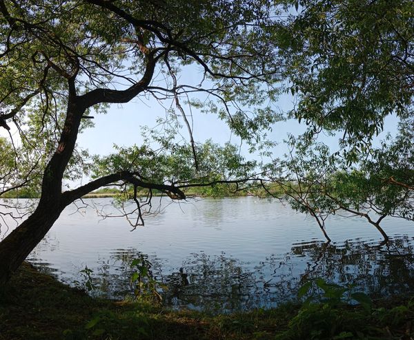
[[[324,277],[338,284],[355,284],[357,289],[377,296],[414,288],[413,238],[406,235],[380,246],[346,241],[342,246],[294,246],[292,253],[308,259],[302,282]]]

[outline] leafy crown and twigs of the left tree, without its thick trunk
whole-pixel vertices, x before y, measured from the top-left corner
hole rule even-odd
[[[251,0],[163,1],[145,6],[132,6],[129,1],[5,1],[0,19],[0,86],[5,94],[1,98],[0,123],[8,129],[10,124],[17,128],[21,149],[7,146],[8,158],[15,158],[15,162],[4,162],[13,171],[0,169],[1,176],[11,176],[3,181],[3,186],[9,190],[14,182],[41,191],[43,171],[57,149],[63,126],[68,123],[68,99],[72,96],[68,91],[72,81],[75,99],[83,101],[83,117],[90,111],[105,112],[108,103],[124,103],[134,96],[152,94],[166,102],[166,107],[175,100],[176,107],[168,109],[173,120],[182,119],[188,124],[182,105],[193,106],[215,112],[235,134],[247,141],[254,140],[252,145],[259,142],[261,131],[280,118],[266,103],[269,96],[274,97],[272,92],[277,92],[272,88],[279,80],[277,63],[271,62],[278,58],[277,51],[268,50],[273,45],[270,27],[279,19],[270,16],[270,12],[278,10],[268,1]],[[198,87],[177,83],[181,72],[186,72],[191,64],[204,71]],[[117,92],[119,99],[108,97],[86,103],[88,93],[109,89],[119,82],[128,81],[132,83],[129,91],[135,90],[133,84],[146,77],[146,70],[150,77],[147,85],[131,98],[120,98],[124,94],[129,96],[128,89],[123,91],[121,86]],[[195,98],[190,98],[193,94]],[[90,119],[81,119],[79,129],[70,129],[78,133],[92,126]],[[166,127],[165,131],[168,129],[175,135],[179,131],[177,125]],[[188,160],[193,155],[201,160],[204,153],[213,152],[211,146],[212,143],[198,145],[192,153],[188,153],[189,145],[177,146],[177,156]],[[229,147],[224,152],[226,149]],[[119,157],[138,150],[148,155],[148,145],[135,151],[116,149]],[[18,157],[22,151],[26,159]],[[87,151],[75,145],[68,164],[62,164],[66,168],[63,178],[77,180],[88,176],[90,167],[94,167],[88,158]],[[224,169],[228,164],[219,165]],[[164,159],[155,180],[186,171],[183,176],[191,175],[197,182],[208,175],[208,166],[210,163],[199,164],[199,173],[194,176],[194,169],[182,169],[177,160]],[[32,183],[34,178],[28,174],[34,170],[37,180]],[[243,169],[237,175],[244,175]],[[26,181],[18,181],[17,176]]]

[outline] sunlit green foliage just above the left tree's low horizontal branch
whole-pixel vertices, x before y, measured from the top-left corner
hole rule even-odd
[[[152,150],[147,145],[116,147],[117,153],[95,157],[93,178],[128,169],[139,173],[147,182],[170,182],[177,185],[232,180],[248,177],[255,169],[254,161],[246,161],[235,145],[221,147],[212,140],[195,145],[197,169],[190,145],[170,145]]]

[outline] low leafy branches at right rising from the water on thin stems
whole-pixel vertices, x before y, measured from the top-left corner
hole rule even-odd
[[[380,226],[385,217],[414,220],[413,128],[412,118],[402,120],[395,138],[359,153],[352,164],[322,142],[290,136],[290,153],[273,165],[273,178],[294,209],[315,217],[328,240],[326,220],[335,213],[364,217],[387,240]]]

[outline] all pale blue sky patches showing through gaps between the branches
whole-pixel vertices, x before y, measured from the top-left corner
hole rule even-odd
[[[128,64],[126,65],[128,66]],[[177,73],[177,83],[193,85],[197,87],[201,81],[204,72],[201,67],[197,65],[186,65],[181,67]],[[159,76],[155,77],[152,85],[165,86],[164,75],[159,72]],[[204,81],[203,86],[208,87],[211,84]],[[124,89],[129,85],[117,85],[117,89]],[[196,96],[196,95],[195,95]],[[200,100],[204,98],[198,96]],[[281,94],[277,103],[273,108],[277,111],[288,112],[293,109],[293,102],[295,98],[290,94]],[[88,149],[91,154],[107,155],[113,152],[113,145],[130,146],[141,145],[143,138],[141,136],[141,127],[155,127],[157,125],[157,117],[165,118],[166,108],[175,107],[172,99],[163,103],[164,107],[152,98],[151,96],[138,96],[130,103],[111,105],[107,114],[93,114],[95,118],[95,128],[87,129],[78,138],[78,143],[81,148]],[[186,114],[190,113],[188,107],[184,105],[184,99],[181,99],[181,105],[184,107]],[[248,147],[243,144],[237,136],[232,135],[226,123],[219,120],[215,114],[201,113],[197,109],[191,110],[193,117],[193,137],[196,142],[204,142],[211,138],[214,142],[224,144],[225,142],[232,142],[236,145],[241,145],[240,153],[246,158],[255,158],[257,156],[248,154]],[[190,116],[188,116],[190,120]],[[184,125],[184,120],[181,118],[181,123]],[[379,141],[384,139],[386,134],[390,132],[392,135],[396,134],[398,119],[395,116],[388,116],[384,122],[384,131],[374,140],[374,145],[378,145]],[[299,124],[297,120],[287,120],[276,123],[272,127],[269,134],[269,139],[278,142],[277,147],[273,149],[274,158],[284,156],[288,148],[283,140],[288,137],[288,134],[298,136],[306,130],[304,123]],[[189,134],[184,127],[181,129],[181,134],[189,140]],[[331,147],[333,152],[338,149],[338,138],[328,137],[322,132],[319,134],[319,140]]]

